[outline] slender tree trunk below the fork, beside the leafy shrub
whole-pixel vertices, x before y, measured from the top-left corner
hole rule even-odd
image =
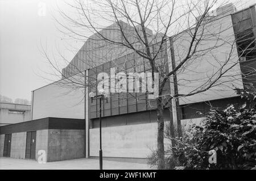
[[[161,100],[157,99],[158,103],[158,110],[157,117],[158,117],[158,155],[159,155],[159,163],[158,169],[163,170],[165,167],[164,161],[164,119],[163,119],[163,108]]]

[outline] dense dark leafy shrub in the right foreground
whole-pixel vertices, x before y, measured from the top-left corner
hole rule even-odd
[[[255,169],[256,91],[236,91],[245,103],[238,110],[233,105],[212,109],[202,125],[175,138],[175,146],[166,149],[166,169]],[[217,153],[216,164],[208,161],[210,150]],[[149,163],[157,165],[156,151],[151,156]]]

